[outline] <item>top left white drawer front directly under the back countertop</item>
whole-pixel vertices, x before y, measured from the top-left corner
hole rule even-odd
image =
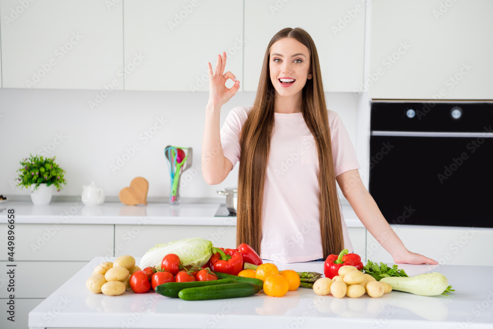
[[[7,247],[7,224],[0,224],[0,240]],[[89,261],[113,256],[113,225],[15,224],[15,261]],[[3,247],[2,246],[2,247]],[[0,260],[7,260],[1,253]]]

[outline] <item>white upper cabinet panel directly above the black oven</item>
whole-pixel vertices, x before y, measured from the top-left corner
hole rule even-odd
[[[371,98],[493,99],[493,1],[373,0]]]

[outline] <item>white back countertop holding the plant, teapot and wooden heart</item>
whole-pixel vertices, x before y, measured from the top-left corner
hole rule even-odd
[[[32,202],[0,203],[0,214],[14,209],[17,224],[140,224],[142,219],[150,225],[226,225],[236,226],[236,217],[214,217],[220,204],[149,203],[126,206],[122,203],[104,203],[88,207],[82,202],[52,202],[35,206]],[[350,205],[342,205],[348,227],[364,227]],[[0,223],[6,216],[0,216]]]

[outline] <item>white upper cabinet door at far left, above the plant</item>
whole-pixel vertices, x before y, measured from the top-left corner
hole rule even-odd
[[[114,2],[2,0],[3,87],[123,89],[123,12]]]

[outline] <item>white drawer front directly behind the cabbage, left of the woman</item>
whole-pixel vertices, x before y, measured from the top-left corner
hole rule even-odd
[[[115,225],[115,256],[141,257],[158,243],[195,237],[236,248],[236,226]]]

